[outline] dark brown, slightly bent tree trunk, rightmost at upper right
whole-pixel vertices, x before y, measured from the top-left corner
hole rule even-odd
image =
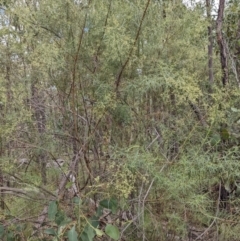
[[[225,86],[228,83],[227,48],[226,48],[226,43],[222,34],[224,7],[225,7],[225,0],[219,0],[218,17],[217,17],[217,42],[220,50],[223,86]]]

